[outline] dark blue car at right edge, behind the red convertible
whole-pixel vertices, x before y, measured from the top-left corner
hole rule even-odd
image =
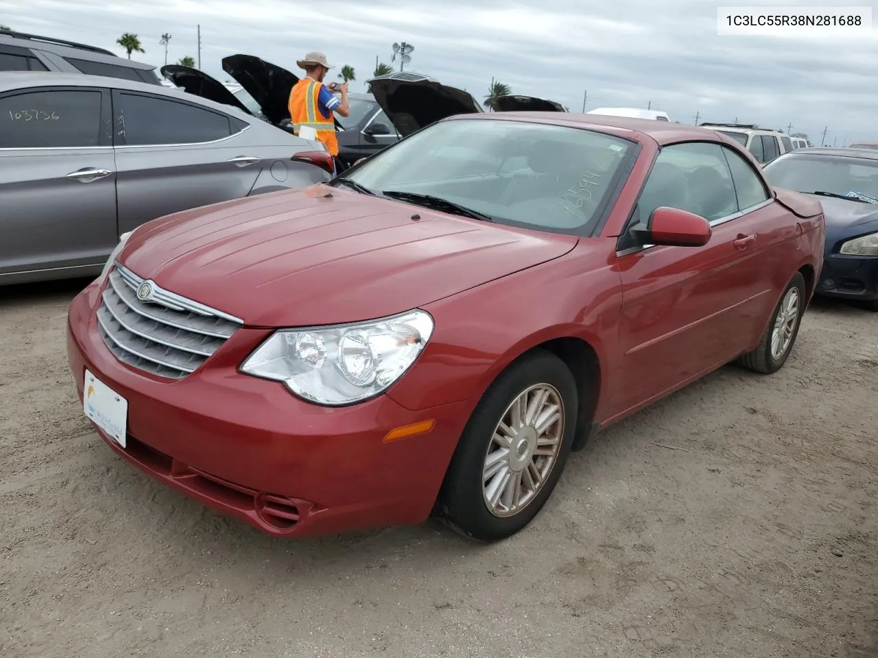
[[[815,294],[878,311],[878,151],[798,148],[766,164],[775,187],[820,197],[824,267]]]

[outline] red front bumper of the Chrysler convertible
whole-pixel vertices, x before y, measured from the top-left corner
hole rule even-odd
[[[117,454],[213,509],[275,536],[332,534],[427,519],[474,403],[408,411],[387,396],[343,408],[308,404],[237,365],[269,332],[244,328],[205,367],[168,380],[104,346],[91,284],[70,304],[68,360],[79,397],[86,368],[128,401]],[[432,431],[385,442],[395,427]],[[97,429],[97,427],[96,427]]]

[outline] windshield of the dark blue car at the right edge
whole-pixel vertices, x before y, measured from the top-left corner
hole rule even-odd
[[[878,197],[878,161],[837,155],[788,154],[763,169],[772,185],[842,197]]]

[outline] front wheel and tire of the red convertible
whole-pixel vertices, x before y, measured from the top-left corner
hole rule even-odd
[[[523,426],[510,440],[511,445],[502,448],[496,442],[504,433],[501,421],[512,425],[510,416],[521,408],[515,405],[516,400],[526,392],[529,404],[536,404],[541,397],[546,398],[546,404],[558,404],[557,419],[540,431],[535,426]],[[550,352],[525,354],[503,371],[472,412],[451,458],[437,499],[445,523],[458,533],[482,541],[501,540],[527,526],[551,496],[564,470],[576,430],[577,400],[570,368]],[[543,413],[550,408],[543,406]],[[541,415],[536,412],[536,418]],[[541,436],[557,442],[539,445]],[[552,454],[533,454],[537,448]],[[493,454],[496,459],[504,449],[504,457],[493,462],[493,476],[486,477],[488,456]],[[513,488],[499,486],[506,474],[520,483],[515,487],[519,491],[517,509]],[[500,496],[492,511],[488,496],[496,490],[507,493]]]

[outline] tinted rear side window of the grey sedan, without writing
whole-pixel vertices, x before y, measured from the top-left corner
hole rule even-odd
[[[120,93],[116,132],[128,146],[196,144],[232,134],[225,114],[169,98]]]

